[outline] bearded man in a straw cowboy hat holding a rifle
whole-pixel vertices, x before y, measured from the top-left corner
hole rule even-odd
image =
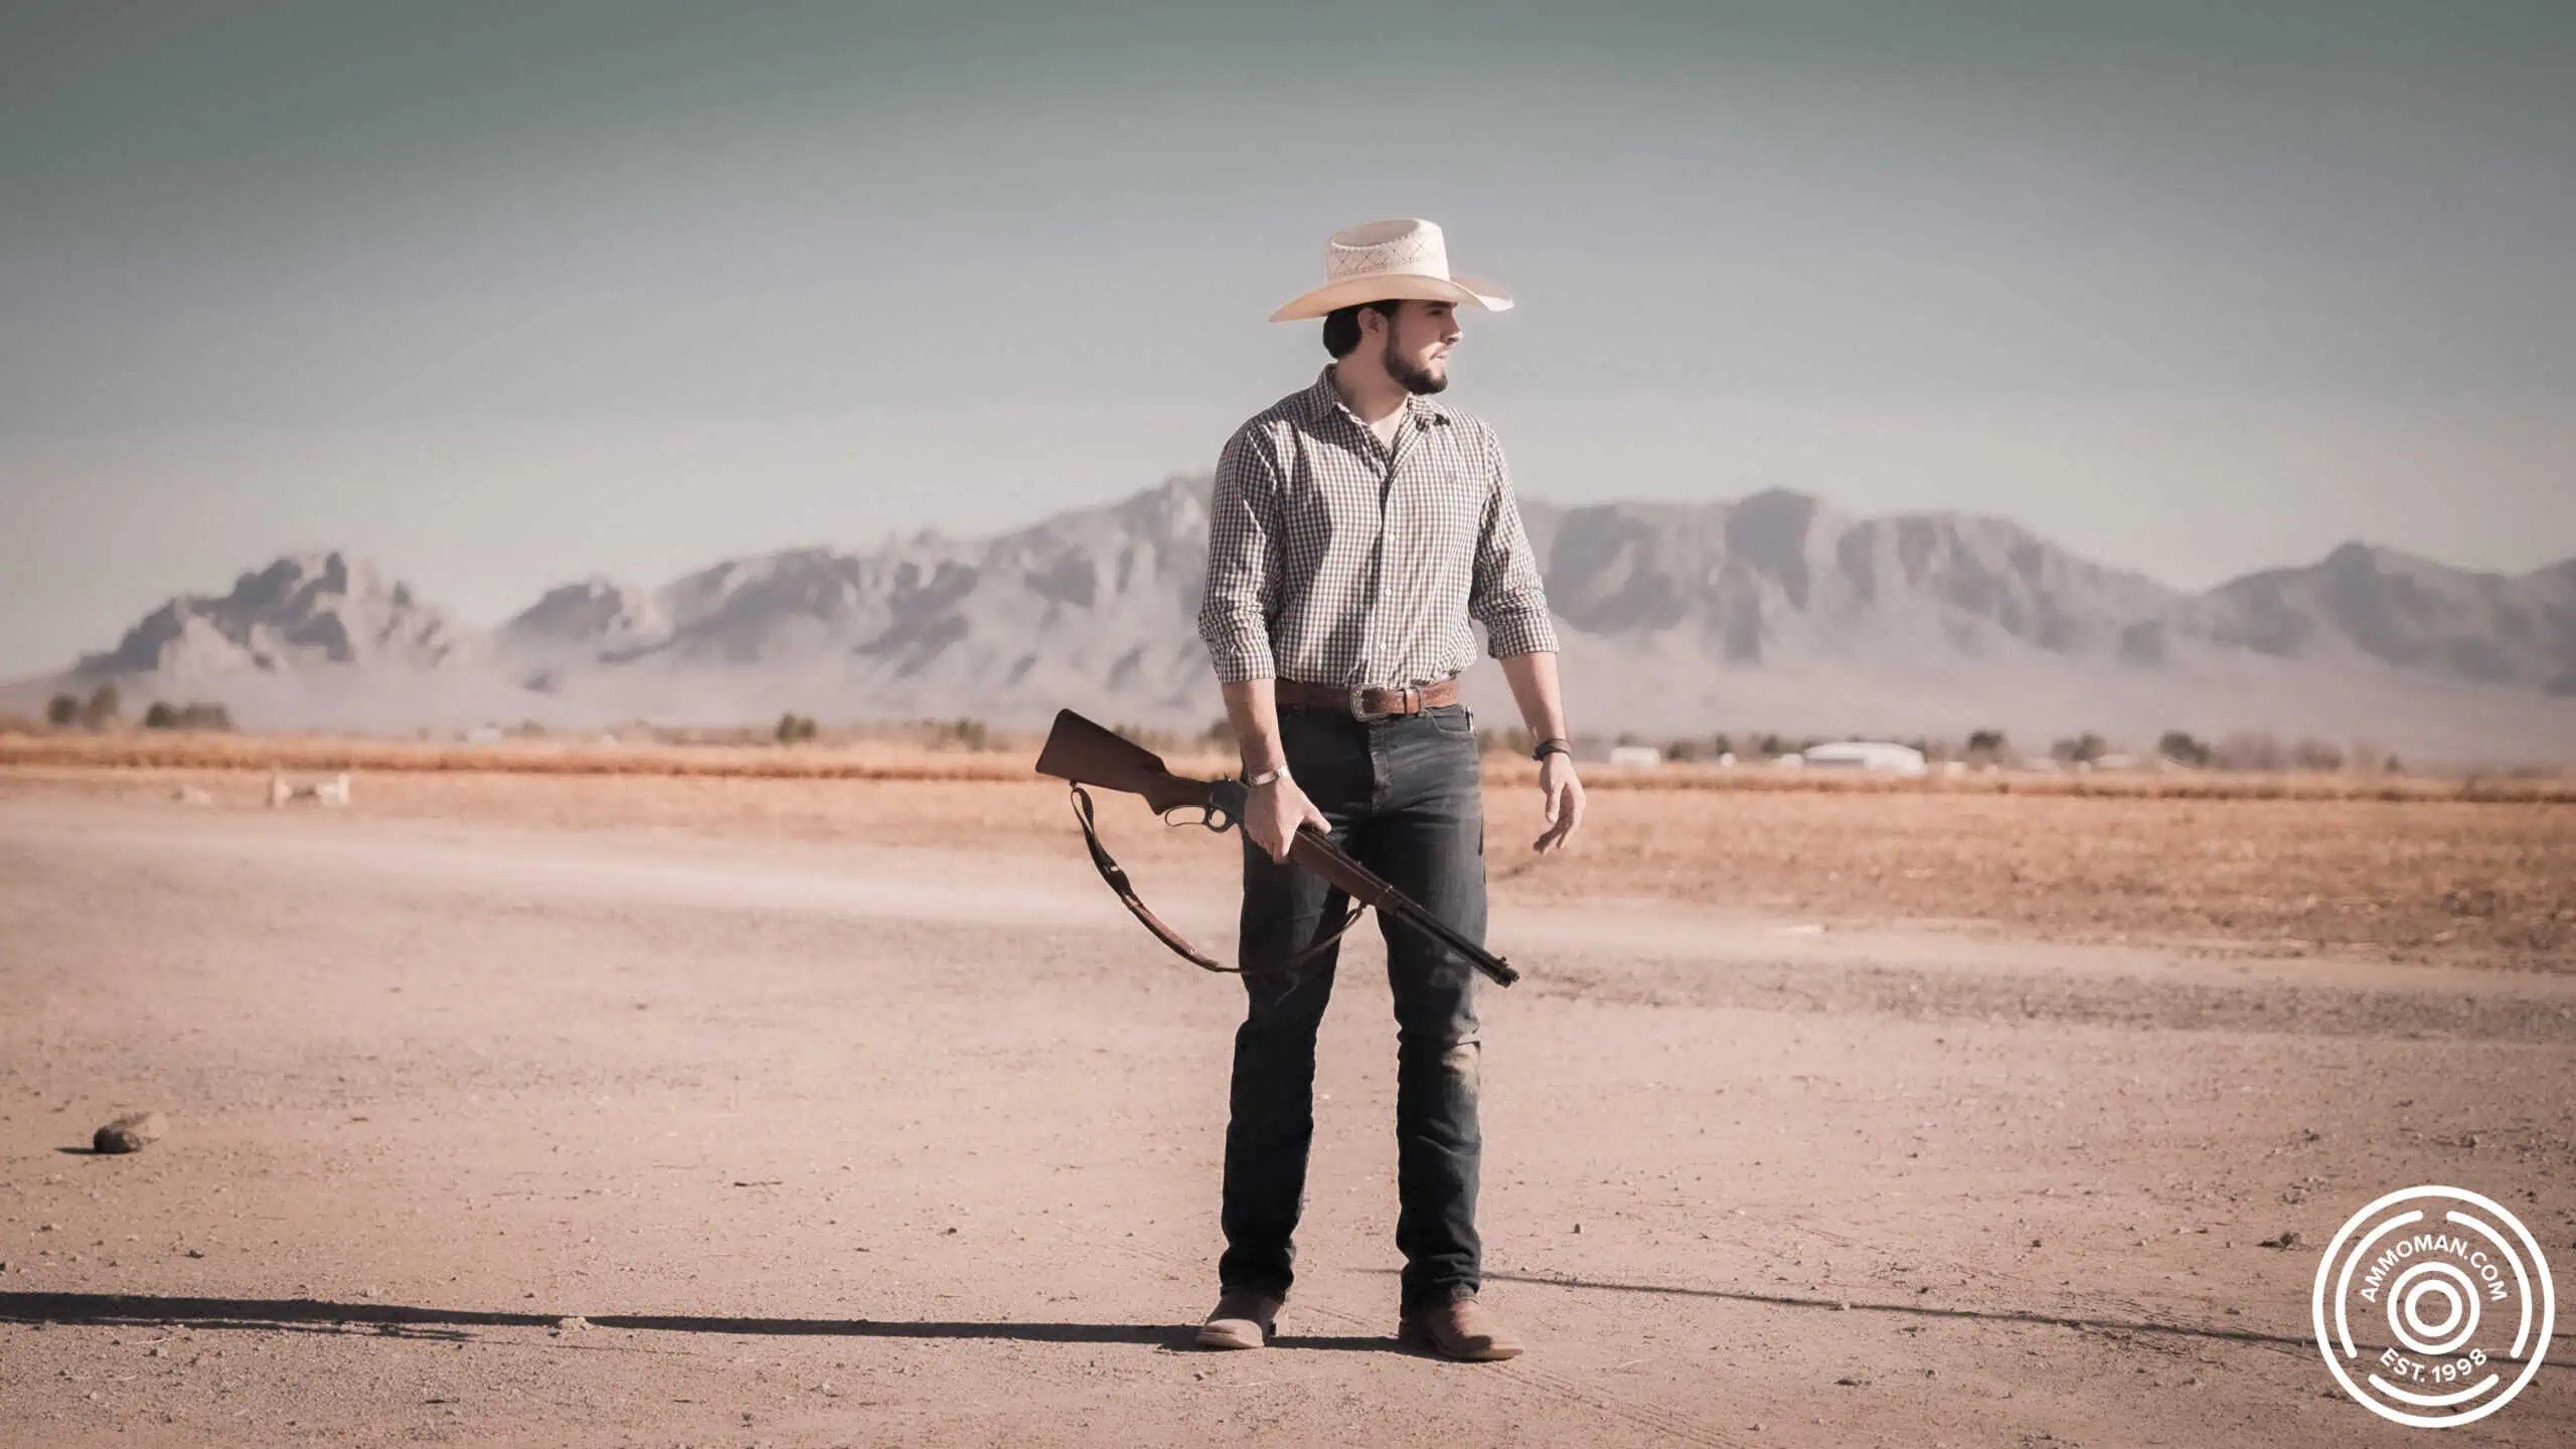
[[[1499,286],[1448,273],[1440,227],[1370,222],[1327,245],[1327,284],[1273,322],[1324,317],[1332,364],[1244,423],[1216,464],[1208,642],[1244,755],[1242,967],[1218,1305],[1198,1341],[1260,1348],[1288,1299],[1291,1235],[1314,1140],[1314,1031],[1347,897],[1285,864],[1314,825],[1427,910],[1484,938],[1484,799],[1458,676],[1486,627],[1538,735],[1548,830],[1584,815],[1556,688],[1556,632],[1494,431],[1432,402],[1458,307],[1502,312]],[[1476,972],[1388,926],[1396,998],[1399,1336],[1450,1359],[1520,1341],[1476,1302]]]

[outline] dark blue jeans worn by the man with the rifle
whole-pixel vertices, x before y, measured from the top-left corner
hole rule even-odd
[[[1432,915],[1484,941],[1484,792],[1476,724],[1463,704],[1352,719],[1280,712],[1280,745],[1332,841]],[[1288,1297],[1291,1243],[1314,1142],[1314,1031],[1332,998],[1340,949],[1288,972],[1332,931],[1350,900],[1306,869],[1273,864],[1244,841],[1239,962],[1249,1008],[1234,1034],[1226,1124],[1226,1256],[1218,1281]],[[1404,1307],[1473,1297],[1476,1238],[1476,967],[1430,936],[1378,920],[1396,998],[1396,1248]]]

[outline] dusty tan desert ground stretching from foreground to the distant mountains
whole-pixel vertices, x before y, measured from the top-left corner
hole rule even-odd
[[[2347,1214],[2576,1287],[2566,799],[1600,789],[1533,859],[1497,768],[1528,1356],[1391,1338],[1365,931],[1280,1338],[1200,1354],[1239,985],[981,773],[0,768],[0,1439],[2409,1444],[2308,1338]],[[1103,820],[1231,944],[1231,835]],[[2445,1441],[2576,1441],[2571,1318]]]

